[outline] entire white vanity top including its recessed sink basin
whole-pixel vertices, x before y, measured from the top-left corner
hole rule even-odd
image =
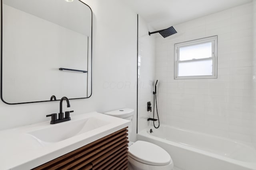
[[[0,131],[0,170],[27,170],[128,127],[130,121],[98,112]]]

